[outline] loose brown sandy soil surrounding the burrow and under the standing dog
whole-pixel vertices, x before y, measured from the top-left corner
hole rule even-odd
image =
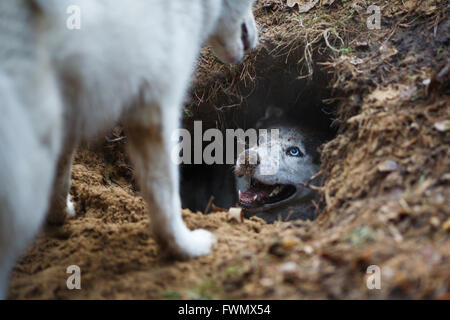
[[[365,27],[365,1],[321,3],[301,14],[303,27],[297,7],[259,4],[263,48],[239,67],[204,52],[187,104],[194,115],[240,104],[264,55],[295,64],[302,79],[325,72],[338,134],[323,147],[316,221],[240,223],[185,210],[187,225],[213,231],[218,244],[168,261],[150,234],[126,138],[85,146],[73,168],[77,217],[44,228],[14,268],[9,298],[449,299],[449,3],[371,1],[381,30]],[[81,268],[82,290],[66,288],[70,265]],[[366,286],[370,265],[381,267],[381,290]]]

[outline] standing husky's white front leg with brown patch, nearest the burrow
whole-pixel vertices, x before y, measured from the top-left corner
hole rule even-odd
[[[150,108],[146,110],[150,112],[141,114],[142,121],[127,124],[127,134],[153,233],[161,248],[178,258],[207,254],[215,242],[214,236],[202,229],[189,230],[181,217],[178,168],[170,158],[170,134],[177,117],[168,115],[168,109]]]

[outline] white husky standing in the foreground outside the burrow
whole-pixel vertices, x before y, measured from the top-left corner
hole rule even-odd
[[[0,2],[0,297],[46,213],[62,223],[74,147],[121,119],[152,229],[178,257],[210,252],[183,223],[171,133],[201,46],[239,62],[257,42],[253,0]],[[68,8],[80,29],[67,28]]]

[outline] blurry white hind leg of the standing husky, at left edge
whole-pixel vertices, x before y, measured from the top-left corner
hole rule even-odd
[[[45,75],[38,82],[35,90],[31,77],[0,73],[0,298],[45,218],[60,146],[54,82]]]

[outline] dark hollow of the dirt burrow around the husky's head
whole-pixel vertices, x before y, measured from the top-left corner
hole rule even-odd
[[[286,120],[290,120],[290,123],[295,123],[299,128],[313,133],[319,145],[335,136],[337,125],[333,123],[333,115],[336,103],[332,99],[330,79],[326,71],[320,67],[321,61],[325,61],[325,58],[316,54],[313,57],[312,72],[308,73],[307,63],[302,59],[304,47],[282,54],[274,52],[276,52],[274,44],[264,43],[264,48],[255,54],[251,61],[254,79],[252,82],[242,77],[237,82],[230,80],[230,78],[239,79],[236,76],[238,67],[230,67],[229,73],[217,71],[206,79],[203,77],[194,88],[194,97],[199,91],[205,94],[202,90],[210,88],[218,90],[212,90],[212,96],[207,99],[193,98],[193,101],[187,104],[184,127],[192,136],[196,121],[201,121],[203,132],[217,128],[225,137],[226,129],[241,128],[244,131],[250,128],[258,129],[261,122],[270,122],[267,120],[272,120],[275,126],[284,125]],[[241,72],[245,72],[245,67]],[[299,77],[299,74],[306,75]],[[274,108],[282,113],[283,119],[278,123],[276,119],[275,121],[268,119],[272,117],[269,110]],[[209,143],[203,142],[203,148]],[[320,146],[314,144],[311,148],[314,148],[311,152],[319,158]],[[225,152],[228,150],[224,150]],[[235,146],[234,163],[237,153]],[[315,161],[319,163],[320,159]],[[183,207],[194,212],[205,212],[207,208],[211,208],[208,206],[211,200],[220,208],[237,205],[239,199],[234,164],[183,164],[181,197]],[[310,210],[315,211],[312,216],[318,214],[318,208],[311,207]],[[267,215],[263,216],[266,221],[276,219],[266,217]]]

